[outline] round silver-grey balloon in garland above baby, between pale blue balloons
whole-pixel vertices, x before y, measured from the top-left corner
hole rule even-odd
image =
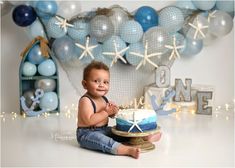
[[[91,22],[91,36],[98,42],[104,42],[114,33],[114,26],[111,20],[104,15],[95,16]]]

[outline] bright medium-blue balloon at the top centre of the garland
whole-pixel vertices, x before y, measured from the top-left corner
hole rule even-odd
[[[134,19],[140,23],[144,32],[158,25],[158,14],[155,9],[149,6],[140,7],[136,11]]]

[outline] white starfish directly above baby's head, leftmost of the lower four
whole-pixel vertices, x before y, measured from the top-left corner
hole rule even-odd
[[[78,46],[79,48],[83,49],[82,54],[80,55],[79,59],[82,59],[84,56],[90,56],[92,59],[95,59],[95,57],[92,54],[92,50],[96,47],[98,47],[98,45],[93,45],[93,46],[89,46],[89,42],[90,42],[90,38],[87,37],[86,38],[86,44],[85,46],[79,44],[79,43],[75,43],[76,46]]]

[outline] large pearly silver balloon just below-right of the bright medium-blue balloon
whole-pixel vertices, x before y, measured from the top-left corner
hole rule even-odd
[[[143,43],[148,43],[148,53],[166,53],[168,49],[165,48],[165,45],[169,44],[170,40],[171,38],[168,31],[162,27],[156,26],[148,29],[143,37]]]

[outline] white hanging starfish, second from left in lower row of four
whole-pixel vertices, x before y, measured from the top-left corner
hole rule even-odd
[[[124,49],[122,49],[121,51],[118,51],[117,50],[117,44],[116,44],[116,41],[114,40],[113,41],[113,45],[114,45],[114,52],[103,52],[102,54],[104,55],[111,55],[111,56],[114,56],[113,57],[113,60],[111,62],[111,67],[113,66],[114,63],[117,62],[118,59],[122,60],[122,62],[124,62],[125,64],[127,63],[126,60],[122,57],[122,53],[126,52],[126,50],[129,49],[129,47],[126,47]]]

